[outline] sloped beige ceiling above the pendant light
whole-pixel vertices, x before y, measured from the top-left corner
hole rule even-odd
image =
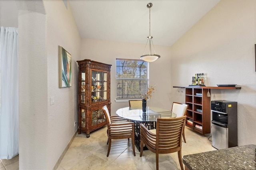
[[[70,0],[80,36],[99,40],[172,45],[219,0]]]

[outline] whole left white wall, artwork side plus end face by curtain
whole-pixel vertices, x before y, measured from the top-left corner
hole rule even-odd
[[[62,0],[19,3],[19,168],[52,169],[77,130],[80,36]],[[58,45],[72,55],[70,88],[58,88]]]

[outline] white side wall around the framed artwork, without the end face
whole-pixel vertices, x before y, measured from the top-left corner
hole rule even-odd
[[[44,0],[46,10],[46,46],[48,75],[48,147],[47,169],[52,169],[68,145],[78,126],[78,67],[80,36],[68,3],[62,0]],[[72,87],[58,88],[58,45],[72,55]],[[54,97],[54,105],[50,105]]]

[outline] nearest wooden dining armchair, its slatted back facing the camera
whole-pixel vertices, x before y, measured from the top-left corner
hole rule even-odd
[[[143,124],[140,124],[140,157],[143,153],[143,146],[156,153],[156,170],[158,167],[158,154],[178,152],[180,168],[182,164],[182,133],[187,116],[178,118],[158,118],[156,120],[156,133],[150,132]]]

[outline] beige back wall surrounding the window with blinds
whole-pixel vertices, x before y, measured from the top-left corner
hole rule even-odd
[[[146,43],[146,41],[145,41]],[[116,103],[116,58],[140,59],[143,55],[145,44],[112,42],[104,40],[82,39],[81,60],[92,59],[102,63],[112,64],[111,67],[111,114],[116,115],[116,110],[128,107],[128,102]],[[148,105],[171,109],[170,104],[170,47],[155,45],[156,53],[160,59],[149,63],[149,83],[156,86],[155,93]]]

